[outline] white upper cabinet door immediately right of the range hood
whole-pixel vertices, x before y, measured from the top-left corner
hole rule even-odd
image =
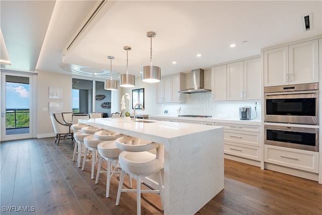
[[[227,65],[211,68],[211,93],[213,101],[226,101]]]

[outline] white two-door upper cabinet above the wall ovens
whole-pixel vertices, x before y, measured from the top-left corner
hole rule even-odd
[[[318,40],[264,51],[264,86],[318,82]]]

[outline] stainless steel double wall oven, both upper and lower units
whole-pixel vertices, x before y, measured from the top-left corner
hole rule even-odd
[[[318,152],[318,83],[265,87],[265,144]]]

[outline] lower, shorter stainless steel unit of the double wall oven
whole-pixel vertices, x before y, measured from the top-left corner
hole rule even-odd
[[[318,128],[264,125],[265,144],[318,152]]]

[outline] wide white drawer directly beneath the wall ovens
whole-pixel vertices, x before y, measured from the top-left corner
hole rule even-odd
[[[318,152],[277,146],[264,146],[264,161],[294,169],[318,173]]]

